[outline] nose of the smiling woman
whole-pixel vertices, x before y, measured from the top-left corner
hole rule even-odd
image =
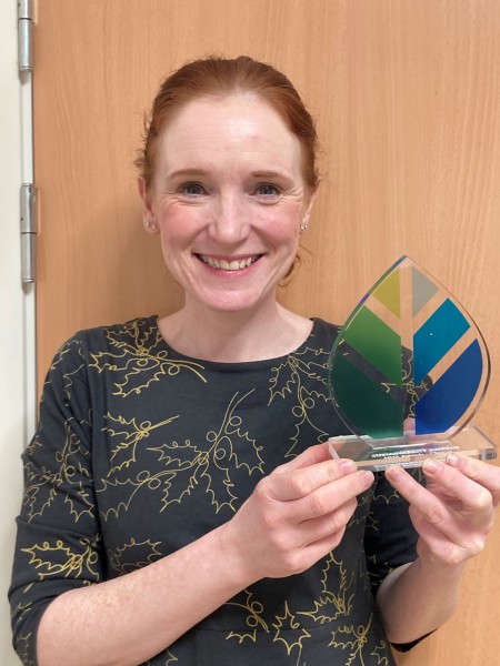
[[[247,238],[249,226],[244,195],[236,192],[221,193],[209,228],[211,238],[221,245],[236,245]]]

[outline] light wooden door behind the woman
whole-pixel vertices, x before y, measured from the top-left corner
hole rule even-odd
[[[324,181],[280,295],[343,321],[401,254],[473,313],[493,375],[477,423],[500,443],[500,3],[497,0],[41,0],[36,27],[40,376],[77,329],[179,307],[142,229],[132,165],[163,75],[210,52],[290,75],[318,119]],[[457,616],[404,666],[500,652],[500,531]]]

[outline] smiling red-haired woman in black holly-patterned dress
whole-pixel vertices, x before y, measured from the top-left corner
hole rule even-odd
[[[186,303],[79,333],[54,360],[11,587],[24,664],[389,665],[390,643],[452,614],[500,472],[428,461],[426,490],[318,444],[342,432],[338,330],[276,300],[316,141],[291,83],[250,58],[161,87],[139,189]]]

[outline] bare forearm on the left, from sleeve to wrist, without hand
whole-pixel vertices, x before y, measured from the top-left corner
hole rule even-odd
[[[243,588],[221,529],[139,571],[57,597],[38,632],[39,666],[137,665]],[[224,554],[223,554],[224,553]]]

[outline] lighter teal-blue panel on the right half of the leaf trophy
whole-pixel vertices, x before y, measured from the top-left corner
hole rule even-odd
[[[447,299],[413,335],[416,385],[420,384],[468,329],[467,319]]]

